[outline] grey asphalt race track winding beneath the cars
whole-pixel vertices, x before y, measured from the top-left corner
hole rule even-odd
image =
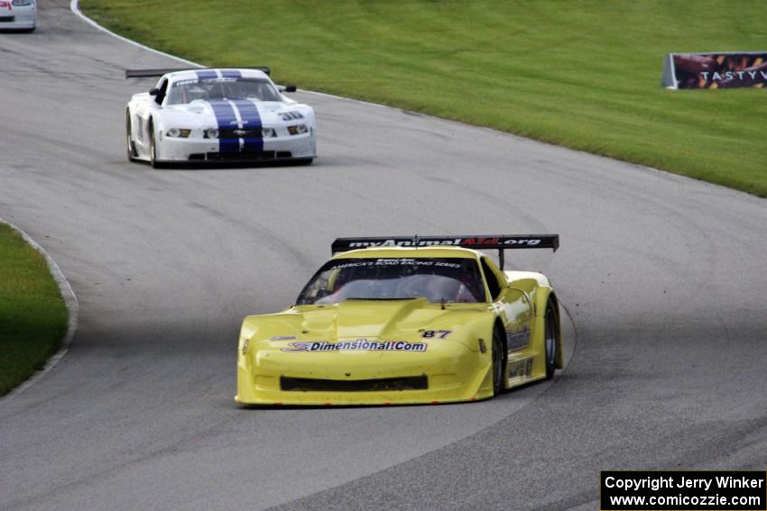
[[[0,34],[0,57],[0,216],[80,302],[69,353],[0,400],[0,508],[586,510],[601,469],[767,466],[764,200],[309,93],[313,166],[153,170],[124,140],[152,84],[123,73],[171,59],[63,0]],[[455,406],[234,403],[242,317],[290,305],[337,236],[533,232],[562,248],[507,267],[547,273],[572,317],[552,383]]]

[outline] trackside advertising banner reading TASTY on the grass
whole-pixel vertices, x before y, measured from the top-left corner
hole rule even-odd
[[[764,87],[767,51],[669,53],[661,85],[666,88]]]

